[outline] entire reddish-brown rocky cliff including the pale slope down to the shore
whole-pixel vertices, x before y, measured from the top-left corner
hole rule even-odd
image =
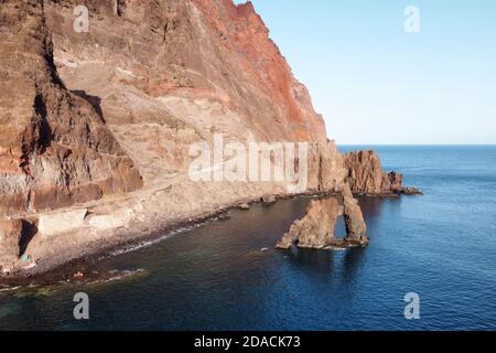
[[[46,268],[288,193],[192,180],[191,146],[219,135],[309,142],[306,192],[363,186],[249,1],[0,0],[0,33],[6,256]]]

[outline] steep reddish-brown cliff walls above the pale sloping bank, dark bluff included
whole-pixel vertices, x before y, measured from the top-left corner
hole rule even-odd
[[[75,30],[80,4],[88,32]],[[309,189],[326,178],[322,156],[337,158],[250,2],[9,0],[0,21],[6,212],[129,192],[141,176],[160,183],[185,172],[191,143],[214,133],[312,142]]]

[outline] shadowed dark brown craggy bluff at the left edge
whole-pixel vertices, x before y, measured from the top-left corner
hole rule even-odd
[[[141,186],[132,161],[57,76],[42,1],[0,8],[0,210],[67,206]]]

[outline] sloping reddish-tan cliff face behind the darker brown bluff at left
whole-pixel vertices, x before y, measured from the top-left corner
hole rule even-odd
[[[79,3],[45,1],[57,71],[99,103],[145,182],[183,172],[188,146],[214,133],[327,143],[306,88],[250,2],[87,0],[89,31],[77,33]]]

